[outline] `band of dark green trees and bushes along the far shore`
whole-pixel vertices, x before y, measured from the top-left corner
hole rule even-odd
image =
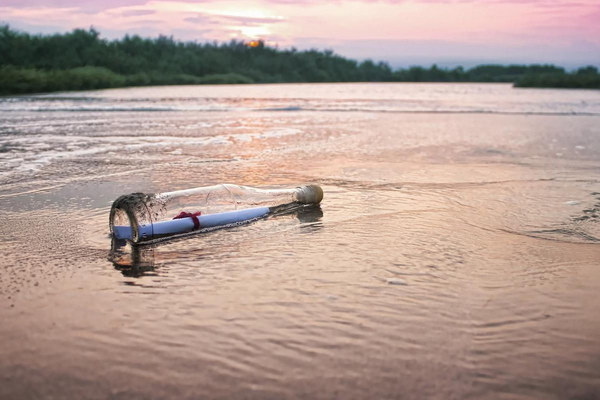
[[[258,45],[256,45],[258,44]],[[595,67],[481,65],[468,70],[357,62],[332,51],[279,50],[244,42],[196,43],[159,36],[100,38],[75,29],[30,35],[0,26],[0,94],[123,86],[276,82],[514,82],[526,87],[600,88]]]

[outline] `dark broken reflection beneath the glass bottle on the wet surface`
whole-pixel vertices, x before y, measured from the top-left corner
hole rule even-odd
[[[317,231],[321,228],[321,224],[317,223],[323,217],[323,211],[319,205],[286,205],[278,207],[271,217],[295,217],[302,224],[302,229],[308,229],[310,232]],[[197,237],[196,235],[192,237]],[[147,275],[156,275],[158,265],[157,258],[161,263],[170,259],[177,259],[181,256],[181,252],[160,250],[160,245],[168,243],[176,243],[178,241],[189,240],[192,237],[174,238],[163,242],[146,245],[133,245],[127,240],[112,239],[111,249],[108,254],[108,260],[112,262],[115,269],[119,270],[123,276],[131,278],[140,278]],[[197,244],[198,242],[190,242]],[[190,249],[186,252],[186,256],[194,254],[194,257],[202,258],[202,249]]]

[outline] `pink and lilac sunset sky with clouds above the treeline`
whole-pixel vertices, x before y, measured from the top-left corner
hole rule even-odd
[[[0,0],[0,23],[30,33],[93,26],[408,65],[600,65],[600,0]]]

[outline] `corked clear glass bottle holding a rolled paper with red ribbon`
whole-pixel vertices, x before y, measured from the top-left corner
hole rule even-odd
[[[141,243],[160,237],[264,217],[284,205],[319,204],[318,185],[259,189],[233,184],[119,197],[110,210],[114,239]]]

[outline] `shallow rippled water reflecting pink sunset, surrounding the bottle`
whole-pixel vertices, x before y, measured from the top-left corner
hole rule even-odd
[[[600,92],[0,99],[0,398],[600,397]],[[320,208],[111,251],[119,195]]]

